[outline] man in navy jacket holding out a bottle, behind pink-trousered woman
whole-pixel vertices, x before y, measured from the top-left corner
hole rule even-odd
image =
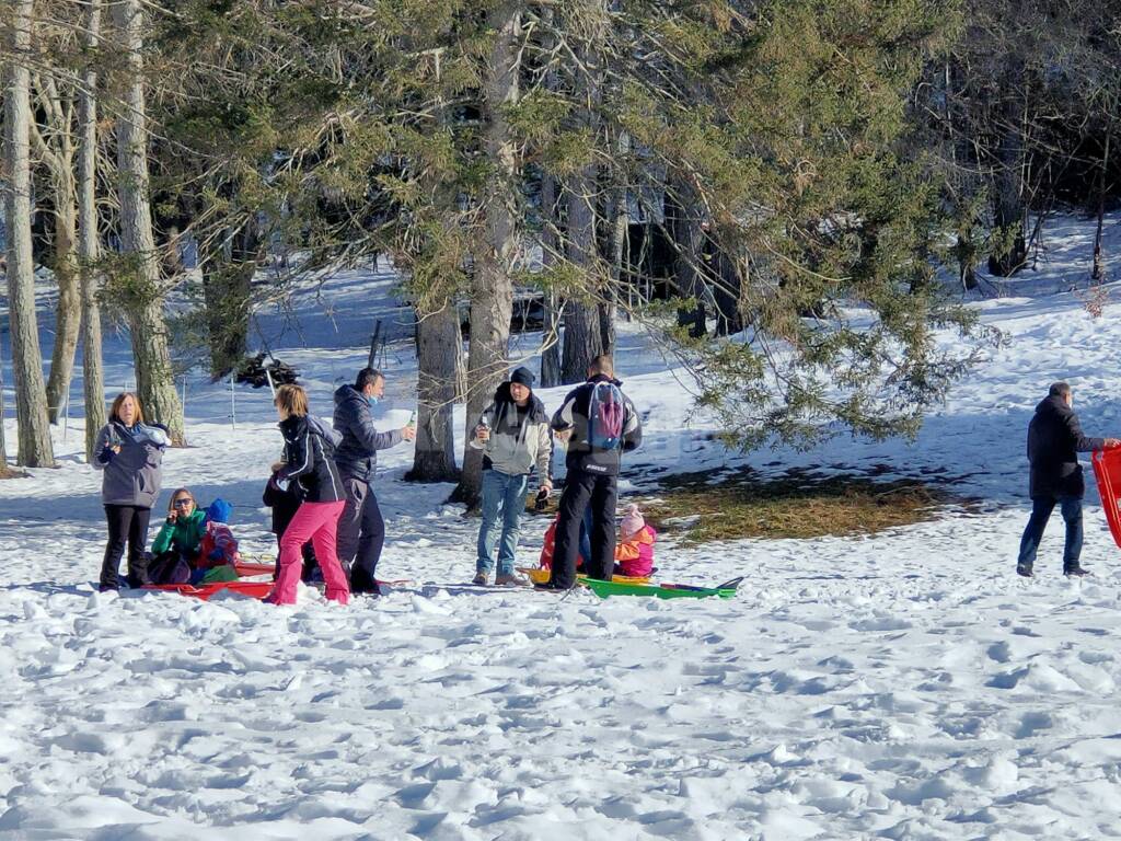
[[[380,595],[374,573],[386,543],[386,523],[373,492],[378,451],[416,437],[416,414],[407,426],[378,432],[371,409],[386,392],[386,378],[376,368],[358,372],[353,386],[335,391],[335,432],[343,436],[335,450],[335,466],[346,491],[339,518],[337,554],[350,571],[351,593]]]

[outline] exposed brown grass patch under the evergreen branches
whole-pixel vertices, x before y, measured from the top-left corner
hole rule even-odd
[[[661,484],[656,493],[628,501],[637,501],[655,528],[684,544],[874,534],[935,519],[949,506],[969,505],[918,480],[796,472],[761,479],[736,471],[673,475]]]

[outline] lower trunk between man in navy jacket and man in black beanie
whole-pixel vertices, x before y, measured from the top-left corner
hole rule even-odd
[[[439,312],[417,317],[417,442],[413,470],[405,478],[454,482],[460,478],[453,420],[463,355],[460,314],[454,302],[447,302]]]

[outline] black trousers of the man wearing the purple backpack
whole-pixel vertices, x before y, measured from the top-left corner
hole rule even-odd
[[[576,553],[580,549],[580,526],[584,511],[591,508],[591,557],[587,574],[611,581],[615,565],[615,502],[619,498],[618,477],[596,475],[569,470],[560,495],[556,546],[553,553],[552,584],[568,589],[576,583]]]

